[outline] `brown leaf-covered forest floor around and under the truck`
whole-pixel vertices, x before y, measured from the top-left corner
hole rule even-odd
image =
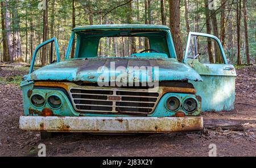
[[[0,68],[0,156],[37,156],[46,145],[47,156],[208,156],[216,144],[217,156],[256,156],[256,66],[237,69],[236,104],[230,112],[206,112],[207,119],[241,123],[244,131],[204,129],[203,132],[102,136],[60,133],[47,140],[39,132],[19,129],[22,92],[27,67]]]

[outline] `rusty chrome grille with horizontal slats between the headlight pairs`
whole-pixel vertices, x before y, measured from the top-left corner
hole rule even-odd
[[[157,91],[145,89],[71,88],[69,94],[73,107],[81,112],[149,114],[159,100]]]

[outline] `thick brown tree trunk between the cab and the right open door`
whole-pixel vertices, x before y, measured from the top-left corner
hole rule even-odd
[[[180,39],[180,1],[170,1],[170,28],[174,40],[175,51],[179,61],[183,58]]]

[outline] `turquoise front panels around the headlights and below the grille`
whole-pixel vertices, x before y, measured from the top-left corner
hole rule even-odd
[[[55,90],[55,89],[32,89],[33,88],[33,82],[28,83],[28,85],[24,85],[22,87],[22,92],[23,92],[23,103],[24,103],[24,115],[28,116],[28,115],[33,115],[33,116],[38,116],[38,114],[36,113],[31,113],[29,111],[29,109],[32,111],[38,111],[38,112],[42,112],[43,108],[50,108],[53,112],[53,115],[55,116],[133,116],[131,115],[118,115],[118,114],[101,114],[101,113],[79,113],[76,112],[71,104],[71,102],[69,101],[67,95],[65,95],[63,93],[63,91],[60,90]],[[35,95],[35,94],[39,94],[41,96],[43,96],[43,98],[45,99],[46,103],[43,107],[35,107],[32,105],[31,101],[30,101],[30,97],[27,96],[27,91],[28,90],[32,90],[32,94],[31,96]],[[47,99],[49,98],[49,96],[51,95],[56,95],[59,96],[59,98],[61,99],[62,102],[62,106],[58,109],[52,109],[48,103],[47,103]],[[180,99],[180,102],[182,103],[184,99],[192,97],[196,99],[196,95],[194,94],[182,94],[182,93],[166,93],[162,96],[162,98],[159,100],[158,105],[155,108],[155,111],[152,112],[152,114],[149,114],[148,116],[152,116],[152,117],[166,117],[166,116],[175,116],[176,112],[184,112],[186,115],[188,116],[197,116],[200,114],[200,102],[198,102],[198,108],[195,112],[193,112],[192,114],[188,114],[187,112],[185,112],[182,108],[182,106],[180,106],[179,109],[177,109],[176,111],[170,111],[168,110],[168,108],[166,107],[166,101],[168,98],[170,98],[170,96],[176,96],[177,98]]]

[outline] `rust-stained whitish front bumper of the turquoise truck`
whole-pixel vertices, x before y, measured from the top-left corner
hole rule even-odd
[[[203,117],[20,116],[19,128],[48,132],[200,131],[203,129]]]

